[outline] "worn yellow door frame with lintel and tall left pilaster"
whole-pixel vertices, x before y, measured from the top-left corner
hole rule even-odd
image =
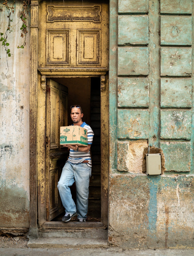
[[[39,1],[31,0],[30,25],[30,228],[65,228],[66,223],[46,222],[46,79],[57,77],[101,77],[101,219],[108,225],[109,177],[109,81],[108,68],[39,68]],[[38,221],[37,221],[38,220]],[[55,225],[54,225],[55,224]],[[75,224],[74,223],[74,227]],[[79,223],[81,224],[81,223]],[[89,223],[90,224],[90,223]],[[89,225],[88,224],[88,225]],[[79,227],[81,227],[79,225]],[[84,224],[84,227],[87,227]],[[92,227],[89,225],[88,227]],[[70,228],[70,225],[68,225]],[[73,226],[72,226],[73,228]]]

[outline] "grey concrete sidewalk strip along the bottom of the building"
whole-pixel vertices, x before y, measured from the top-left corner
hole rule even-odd
[[[123,250],[122,248],[0,248],[0,256],[190,256],[194,249]]]

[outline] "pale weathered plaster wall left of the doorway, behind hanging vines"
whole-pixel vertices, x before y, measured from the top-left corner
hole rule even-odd
[[[30,34],[24,49],[18,23],[22,3],[16,2],[13,32],[7,38],[11,57],[0,52],[0,226],[29,226],[29,60]],[[7,13],[1,4],[0,28],[6,30]]]

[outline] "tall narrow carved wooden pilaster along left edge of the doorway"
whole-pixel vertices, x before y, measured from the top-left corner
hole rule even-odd
[[[30,19],[30,228],[37,227],[37,87],[38,0],[31,0]]]

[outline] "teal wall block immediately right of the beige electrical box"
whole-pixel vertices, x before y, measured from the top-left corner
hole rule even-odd
[[[165,155],[166,171],[189,172],[191,163],[190,142],[161,142]]]

